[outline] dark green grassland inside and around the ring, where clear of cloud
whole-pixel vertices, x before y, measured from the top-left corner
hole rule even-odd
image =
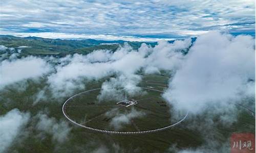
[[[140,84],[142,87],[151,86],[154,88],[159,88],[158,86],[166,86],[168,78],[166,75],[151,74],[145,75]],[[100,81],[91,81],[84,82],[87,89],[100,88],[102,82],[108,78],[104,78]],[[153,82],[154,80],[155,82]],[[159,81],[159,82],[157,82]],[[154,84],[153,84],[154,83]],[[62,105],[67,97],[63,99],[54,99],[49,98],[47,100],[41,100],[38,104],[33,105],[35,98],[31,95],[36,94],[38,91],[42,90],[46,84],[45,79],[41,79],[38,83],[33,80],[27,81],[27,89],[24,91],[16,90],[14,85],[6,87],[4,90],[0,91],[0,115],[6,114],[8,111],[17,108],[22,112],[30,112],[32,119],[26,126],[24,135],[29,132],[28,137],[24,137],[22,140],[15,142],[7,152],[92,152],[96,148],[104,145],[110,149],[111,152],[114,152],[117,148],[115,145],[120,147],[119,152],[125,150],[124,152],[166,152],[168,148],[174,144],[178,148],[194,148],[202,145],[204,143],[203,136],[200,134],[200,131],[190,130],[188,119],[184,120],[178,126],[175,126],[172,129],[161,131],[158,133],[144,134],[144,135],[110,135],[96,133],[87,129],[84,129],[80,126],[69,123],[69,126],[72,127],[69,139],[62,144],[56,144],[52,140],[51,135],[45,135],[44,139],[41,139],[38,135],[40,134],[35,129],[36,119],[33,117],[40,111],[48,112],[50,117],[54,117],[57,120],[66,120],[62,114]],[[164,90],[162,88],[161,90]],[[79,93],[82,90],[74,91],[74,93]],[[46,91],[50,95],[49,91]],[[141,95],[140,97],[150,97],[150,96],[159,96],[157,92],[147,91],[147,95]],[[73,102],[77,105],[83,105],[82,103],[91,103],[95,101],[95,96],[98,94],[98,91],[92,92],[92,94],[81,96],[80,99],[75,99]],[[84,99],[86,97],[86,99]],[[89,98],[88,98],[89,97]],[[136,97],[135,97],[136,98]],[[140,111],[145,111],[147,115],[142,118],[134,119],[137,126],[142,130],[151,129],[152,126],[164,126],[169,121],[169,114],[167,108],[170,107],[160,107],[158,103],[154,101],[162,100],[158,97],[151,98],[150,101],[144,100],[139,103],[137,106],[134,106],[135,109]],[[80,103],[79,103],[80,101]],[[85,102],[84,102],[85,101]],[[96,102],[96,101],[95,101]],[[108,101],[108,103],[113,103],[114,101]],[[116,102],[116,101],[115,101]],[[149,103],[150,102],[150,103]],[[152,102],[152,103],[151,103]],[[73,104],[74,105],[74,104]],[[104,105],[103,103],[101,104]],[[75,105],[74,105],[75,106]],[[95,117],[98,114],[105,113],[109,111],[110,108],[115,108],[116,105],[113,104],[113,107],[93,107],[91,109],[90,105],[87,107],[70,107],[69,109],[70,116],[77,118],[79,121],[83,121],[86,116],[87,119]],[[89,106],[89,107],[88,107]],[[139,108],[140,107],[140,108]],[[131,108],[128,108],[131,109]],[[93,110],[93,111],[92,111]],[[121,108],[121,111],[125,111],[124,108]],[[166,114],[165,114],[166,112]],[[198,122],[201,122],[198,119]],[[104,120],[104,116],[100,116],[95,119],[93,122],[90,122],[91,126],[105,126],[106,129],[110,129],[109,121]],[[220,125],[217,129],[220,134],[225,138],[229,138],[230,135],[234,132],[252,132],[254,131],[255,118],[250,115],[246,110],[241,109],[239,113],[238,121],[234,123],[230,128],[226,128]],[[125,126],[123,130],[135,130],[133,125]],[[220,143],[225,140],[219,140]],[[56,147],[57,145],[57,147]]]

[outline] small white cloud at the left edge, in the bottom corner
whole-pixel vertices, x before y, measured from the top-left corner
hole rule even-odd
[[[0,152],[4,152],[22,132],[30,118],[29,113],[13,109],[0,116]]]

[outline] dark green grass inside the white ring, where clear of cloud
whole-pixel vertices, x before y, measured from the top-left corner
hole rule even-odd
[[[144,116],[133,119],[133,123],[138,125],[140,131],[154,130],[169,125],[169,107],[164,99],[161,98],[161,93],[152,90],[144,91],[147,93],[140,96],[128,97],[129,99],[141,99],[138,101],[137,105],[124,107],[116,104],[118,101],[115,100],[97,103],[97,95],[100,94],[100,90],[94,90],[72,98],[66,106],[66,112],[71,119],[78,121],[78,123],[82,123],[79,121],[86,121],[84,125],[102,130],[114,131],[114,129],[109,127],[109,122],[115,116],[109,117],[105,115],[106,112],[112,109],[122,114],[131,112],[131,109],[145,113]],[[120,131],[125,130],[136,131],[135,127],[130,124],[125,125]]]

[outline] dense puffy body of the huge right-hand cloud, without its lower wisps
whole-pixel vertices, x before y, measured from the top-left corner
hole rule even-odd
[[[177,109],[192,113],[200,113],[209,104],[234,104],[248,90],[255,96],[255,89],[250,88],[255,87],[254,42],[250,36],[202,35],[163,96]]]

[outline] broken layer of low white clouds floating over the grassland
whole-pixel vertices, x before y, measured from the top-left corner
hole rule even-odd
[[[170,70],[174,77],[170,79],[169,88],[163,97],[174,109],[190,112],[187,117],[189,124],[184,122],[184,125],[189,130],[199,131],[208,144],[181,152],[210,152],[214,149],[215,152],[220,152],[221,149],[226,149],[226,143],[222,145],[216,142],[225,140],[225,136],[218,132],[218,127],[230,126],[237,120],[239,110],[235,105],[240,99],[255,97],[254,42],[251,36],[234,37],[210,32],[198,37],[186,55],[181,50],[189,48],[191,39],[177,40],[174,43],[159,41],[155,47],[142,44],[138,50],[124,44],[116,52],[94,50],[88,55],[75,54],[63,58],[31,56],[17,59],[19,53],[13,53],[10,57],[6,55],[0,59],[0,90],[8,89],[8,85],[22,84],[25,91],[28,87],[26,80],[32,79],[43,86],[35,89],[35,94],[31,95],[34,105],[37,105],[45,99],[63,102],[60,97],[68,97],[77,89],[86,90],[87,83],[91,81],[100,81],[103,83],[99,100],[109,95],[112,98],[123,98],[120,95],[122,90],[128,96],[141,94],[138,84],[144,74]],[[11,51],[11,48],[0,47],[1,51]],[[239,102],[241,101],[243,100]],[[60,144],[67,140],[71,132],[67,122],[40,112],[34,113],[33,119],[36,121],[33,122],[33,127],[40,133],[37,137],[44,139],[46,135],[50,135],[53,143]],[[110,126],[115,129],[121,129],[122,125],[143,115],[143,112],[133,109],[126,113],[113,110],[106,114],[111,117]],[[173,116],[175,115],[172,114]],[[19,136],[19,130],[26,125],[28,119],[27,113],[16,109],[0,117],[0,124],[3,125],[0,126],[0,144],[4,146],[0,148],[0,152]],[[172,149],[178,151],[175,147],[170,150]],[[104,149],[99,148],[100,150]]]

